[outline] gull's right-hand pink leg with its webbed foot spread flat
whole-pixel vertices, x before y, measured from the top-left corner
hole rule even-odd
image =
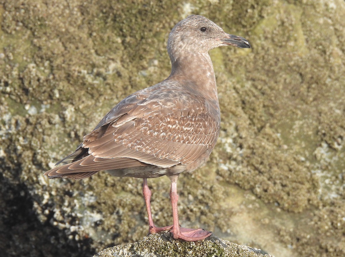
[[[173,228],[169,231],[172,233],[175,239],[182,239],[185,241],[198,241],[203,240],[206,237],[210,236],[212,232],[203,230],[201,228],[198,229],[192,229],[192,228],[182,228],[180,227],[178,223],[178,210],[177,210],[177,201],[178,201],[178,195],[177,195],[177,182],[178,175],[170,176],[171,181],[171,189],[170,189],[170,200],[172,205],[172,217],[174,219],[174,225]]]

